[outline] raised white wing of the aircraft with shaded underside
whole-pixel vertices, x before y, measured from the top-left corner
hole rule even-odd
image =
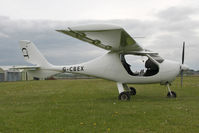
[[[143,53],[145,51],[119,26],[87,25],[56,31],[114,52],[128,53],[134,51],[135,53]]]

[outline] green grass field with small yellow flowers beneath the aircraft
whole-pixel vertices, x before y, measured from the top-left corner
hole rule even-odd
[[[185,77],[176,99],[159,84],[134,85],[118,101],[116,84],[102,79],[0,83],[0,133],[198,133],[199,77]]]

